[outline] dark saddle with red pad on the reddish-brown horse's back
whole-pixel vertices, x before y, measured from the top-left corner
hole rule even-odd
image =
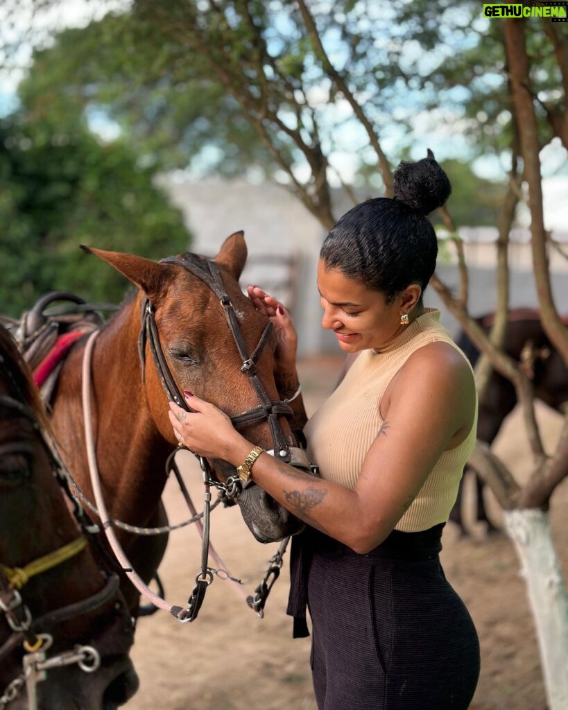
[[[54,306],[55,302],[59,305]],[[45,403],[50,402],[72,345],[104,324],[103,310],[118,310],[118,306],[89,304],[74,293],[50,291],[12,324],[12,335]]]

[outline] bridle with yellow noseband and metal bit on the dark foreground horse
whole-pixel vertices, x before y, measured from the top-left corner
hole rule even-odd
[[[5,662],[6,657],[19,645],[23,645],[26,651],[23,656],[23,672],[13,679],[4,692],[0,694],[0,709],[6,708],[11,701],[16,699],[25,685],[28,691],[28,710],[36,710],[38,701],[35,686],[39,681],[45,679],[48,670],[76,663],[84,672],[94,672],[101,663],[99,650],[90,645],[76,645],[72,650],[58,652],[55,656],[48,657],[47,651],[53,644],[53,635],[48,633],[48,630],[53,632],[53,627],[57,626],[58,623],[84,616],[107,605],[119,593],[119,577],[117,574],[107,574],[101,570],[106,580],[102,589],[86,599],[55,608],[38,618],[34,619],[32,617],[31,611],[23,601],[19,590],[25,586],[29,577],[43,574],[48,569],[58,567],[62,562],[75,556],[87,545],[87,536],[91,540],[98,540],[97,537],[94,537],[94,533],[98,532],[98,528],[96,525],[92,525],[92,521],[84,513],[80,503],[70,493],[68,478],[65,475],[62,461],[58,457],[55,448],[48,443],[33,410],[28,405],[8,395],[0,395],[0,414],[3,410],[4,412],[7,411],[11,417],[24,417],[31,423],[35,435],[39,438],[48,455],[55,478],[72,502],[75,519],[82,530],[82,535],[71,543],[48,553],[48,555],[28,562],[21,569],[10,568],[0,564],[0,613],[4,614],[11,629],[11,634],[0,646],[0,663]],[[13,445],[0,448],[5,448],[6,450],[9,448],[11,453],[18,450]],[[119,603],[118,600],[117,603]],[[128,614],[126,606],[124,606],[124,603],[119,604],[121,608],[124,607],[122,608],[122,616],[126,619]],[[130,633],[125,648],[121,648],[120,652],[130,648],[133,642],[133,625],[130,623],[122,624],[122,626],[126,626],[126,630],[130,629]]]

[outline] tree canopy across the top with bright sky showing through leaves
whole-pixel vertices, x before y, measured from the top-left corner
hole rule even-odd
[[[430,145],[437,158],[455,170],[454,221],[495,224],[501,187],[448,158],[493,154],[507,165],[515,136],[503,22],[483,18],[474,0],[306,5],[317,37],[300,0],[133,0],[36,50],[20,87],[23,110],[36,128],[49,121],[72,134],[98,112],[119,126],[122,149],[153,170],[253,170],[287,181],[323,223],[333,217],[328,181],[341,170],[337,155],[351,159],[346,182],[380,195],[368,133],[388,146],[394,166],[416,157],[420,122],[422,133],[443,141],[444,154]],[[526,26],[528,89],[544,145],[552,109],[562,108],[561,76],[550,28],[537,19]]]

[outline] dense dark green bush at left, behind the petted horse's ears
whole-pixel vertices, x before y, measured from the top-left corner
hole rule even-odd
[[[13,316],[48,290],[121,300],[124,277],[80,244],[160,258],[190,240],[124,143],[21,116],[0,121],[0,223],[1,311]]]

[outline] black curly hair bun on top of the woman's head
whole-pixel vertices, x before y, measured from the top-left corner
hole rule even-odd
[[[452,192],[448,176],[428,148],[427,158],[417,163],[403,160],[394,174],[394,197],[419,214],[442,207]]]

